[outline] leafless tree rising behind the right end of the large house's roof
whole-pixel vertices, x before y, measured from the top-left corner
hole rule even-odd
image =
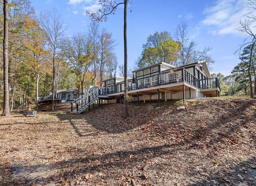
[[[188,24],[181,22],[178,24],[174,38],[180,42],[180,57],[176,61],[176,66],[186,65],[197,61],[205,60],[208,64],[214,63],[208,52],[212,48],[205,47],[202,51],[196,50],[197,43],[188,38]]]

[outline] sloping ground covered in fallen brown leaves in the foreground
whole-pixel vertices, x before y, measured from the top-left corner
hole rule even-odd
[[[256,185],[256,100],[161,104],[0,118],[0,185]]]

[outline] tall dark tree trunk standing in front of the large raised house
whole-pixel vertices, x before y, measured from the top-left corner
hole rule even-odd
[[[128,115],[128,86],[127,86],[127,2],[124,0],[124,118]]]

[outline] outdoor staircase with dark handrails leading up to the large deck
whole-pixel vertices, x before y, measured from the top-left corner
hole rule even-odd
[[[80,114],[85,109],[89,108],[90,105],[95,103],[100,96],[108,95],[108,89],[105,87],[98,87],[96,89],[91,89],[87,94],[83,94],[75,101],[72,101],[71,112],[72,114]]]

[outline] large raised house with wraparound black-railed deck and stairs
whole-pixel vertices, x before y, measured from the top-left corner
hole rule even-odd
[[[156,63],[133,71],[134,78],[128,78],[129,101],[168,99],[193,99],[220,96],[220,84],[217,77],[211,78],[205,61],[198,61],[175,67],[167,63]],[[91,89],[84,98],[76,101],[72,113],[80,113],[90,108],[95,101],[107,100],[105,103],[122,103],[124,99],[124,78],[113,77],[104,81],[104,87]],[[82,101],[81,101],[82,100]],[[81,106],[80,103],[84,103]],[[101,103],[101,101],[99,102]],[[74,111],[74,109],[76,109]]]

